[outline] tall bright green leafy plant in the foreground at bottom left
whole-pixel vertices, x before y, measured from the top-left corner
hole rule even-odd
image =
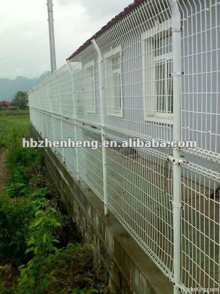
[[[42,199],[39,205],[44,207],[46,200]],[[53,230],[60,226],[56,220],[58,215],[56,209],[48,207],[39,209],[35,212],[35,219],[32,221],[29,229],[30,235],[27,241],[28,248],[26,253],[31,252],[33,258],[27,265],[19,267],[21,278],[17,288],[18,293],[43,293],[49,286],[49,281],[55,281],[52,274],[51,260],[56,254],[58,248],[54,245],[59,243],[53,236]]]

